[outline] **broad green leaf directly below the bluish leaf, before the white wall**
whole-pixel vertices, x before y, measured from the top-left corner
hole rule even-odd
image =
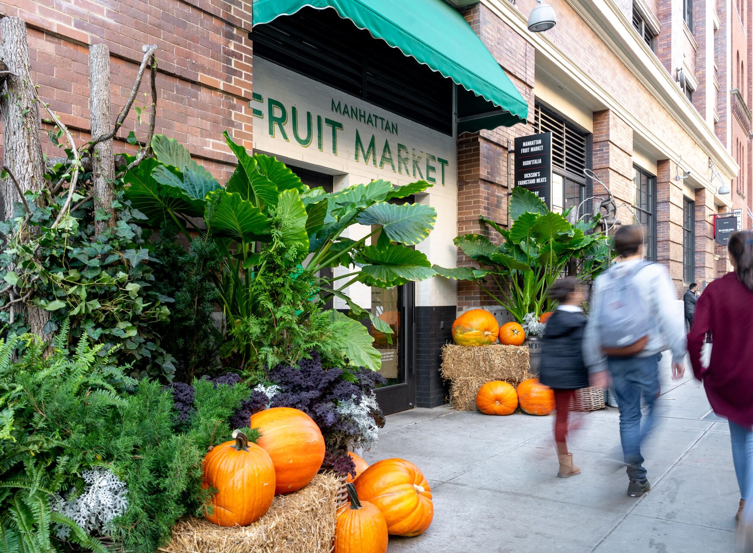
[[[358,280],[379,288],[422,281],[436,274],[425,254],[403,245],[367,246],[356,254],[355,262],[361,265]]]

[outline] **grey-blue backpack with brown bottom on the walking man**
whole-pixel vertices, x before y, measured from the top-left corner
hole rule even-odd
[[[639,261],[629,272],[615,270],[619,266],[614,266],[603,276],[605,284],[594,322],[599,328],[605,355],[630,357],[639,354],[648,344],[654,324],[639,299],[645,290],[636,278],[648,265],[651,265],[648,261]]]

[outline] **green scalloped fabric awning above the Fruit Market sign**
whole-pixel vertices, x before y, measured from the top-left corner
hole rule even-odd
[[[528,104],[462,15],[443,0],[254,0],[253,24],[334,8],[458,88],[458,134],[526,123]]]

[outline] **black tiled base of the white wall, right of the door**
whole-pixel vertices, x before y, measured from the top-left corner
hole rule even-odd
[[[416,306],[416,407],[447,403],[450,383],[442,381],[439,367],[456,317],[455,305]]]

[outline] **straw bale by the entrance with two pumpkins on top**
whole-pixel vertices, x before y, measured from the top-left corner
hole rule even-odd
[[[513,386],[529,372],[529,351],[525,345],[447,344],[442,348],[442,378],[450,381],[450,405],[458,411],[475,411],[476,394],[486,382],[502,380]]]

